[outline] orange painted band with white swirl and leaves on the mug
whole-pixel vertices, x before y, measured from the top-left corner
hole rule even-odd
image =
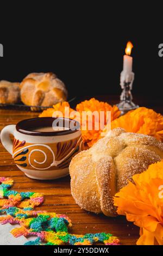
[[[27,143],[14,139],[12,157],[23,168],[35,170],[64,169],[74,155],[84,149],[82,136],[58,143]]]

